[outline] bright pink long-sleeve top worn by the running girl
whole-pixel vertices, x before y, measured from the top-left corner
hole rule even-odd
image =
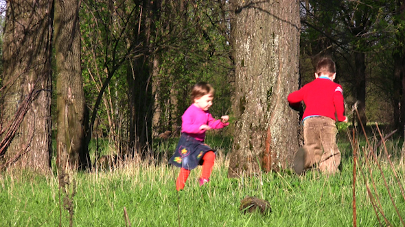
[[[211,129],[222,129],[229,124],[229,122],[222,123],[220,119],[215,120],[212,115],[209,114],[209,111],[204,111],[194,104],[186,109],[183,116],[181,116],[181,120],[183,121],[181,124],[181,132],[187,133],[199,141],[204,141],[205,139],[206,130],[200,130],[201,125],[207,124]]]

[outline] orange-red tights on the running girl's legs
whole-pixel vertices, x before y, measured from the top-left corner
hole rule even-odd
[[[213,163],[215,161],[215,154],[213,151],[209,151],[205,153],[203,156],[203,170],[201,171],[201,178],[208,180],[209,176],[211,176]],[[178,174],[177,181],[176,181],[176,190],[180,191],[184,188],[185,182],[189,177],[190,170],[186,170],[185,168],[180,169],[180,174]]]

